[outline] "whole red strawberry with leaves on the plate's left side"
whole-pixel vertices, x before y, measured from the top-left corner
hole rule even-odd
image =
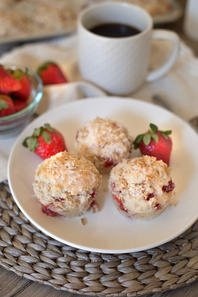
[[[29,142],[30,151],[34,151],[42,159],[67,150],[61,133],[52,128],[50,124],[44,126],[34,129],[32,136],[26,137],[23,141],[23,146],[28,147]]]

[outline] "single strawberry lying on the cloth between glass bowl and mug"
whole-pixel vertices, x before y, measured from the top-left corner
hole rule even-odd
[[[45,62],[37,69],[44,85],[67,83],[67,79],[59,66],[54,62]]]

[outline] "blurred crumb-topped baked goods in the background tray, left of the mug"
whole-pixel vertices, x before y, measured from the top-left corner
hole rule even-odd
[[[1,0],[0,37],[31,37],[73,30],[80,8],[80,3],[74,9],[65,0]]]

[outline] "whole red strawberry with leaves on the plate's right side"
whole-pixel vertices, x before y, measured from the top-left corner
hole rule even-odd
[[[172,140],[168,134],[171,131],[159,131],[158,127],[150,124],[151,130],[145,134],[140,134],[134,140],[134,149],[140,148],[143,155],[156,157],[169,165]]]

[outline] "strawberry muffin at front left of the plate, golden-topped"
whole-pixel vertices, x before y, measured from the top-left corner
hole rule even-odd
[[[34,176],[35,195],[50,216],[80,216],[90,208],[102,182],[92,162],[67,151],[45,159]]]

